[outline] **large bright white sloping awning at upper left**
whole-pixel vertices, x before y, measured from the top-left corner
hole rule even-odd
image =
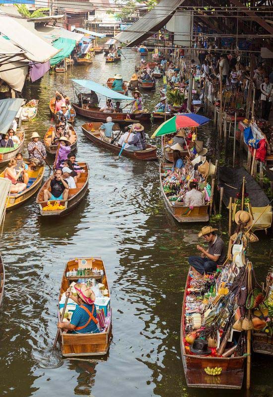
[[[0,33],[24,50],[24,57],[33,62],[44,63],[59,52],[2,11],[0,11]]]

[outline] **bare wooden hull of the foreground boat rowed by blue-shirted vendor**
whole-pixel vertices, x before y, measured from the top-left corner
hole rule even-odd
[[[59,301],[61,300],[62,294],[68,290],[68,287],[71,282],[73,281],[77,282],[78,279],[86,278],[86,276],[67,277],[66,276],[67,272],[73,269],[77,270],[78,268],[84,268],[84,267],[85,268],[96,267],[99,270],[103,270],[104,275],[92,274],[92,278],[95,278],[96,281],[105,285],[105,289],[108,290],[108,295],[106,296],[110,298],[109,283],[106,275],[106,269],[101,257],[71,258],[68,261],[63,274]],[[59,320],[60,317],[61,317],[60,310],[58,310]],[[63,356],[81,357],[81,356],[101,356],[107,354],[112,339],[111,309],[110,309],[110,314],[107,318],[108,318],[108,324],[106,328],[99,333],[66,333],[61,331],[59,340],[61,342],[61,350]]]

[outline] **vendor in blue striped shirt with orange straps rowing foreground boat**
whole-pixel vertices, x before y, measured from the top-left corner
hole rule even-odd
[[[98,333],[98,320],[96,319],[95,294],[86,284],[75,284],[77,297],[67,292],[66,295],[77,303],[70,322],[58,323],[58,328],[71,333]]]

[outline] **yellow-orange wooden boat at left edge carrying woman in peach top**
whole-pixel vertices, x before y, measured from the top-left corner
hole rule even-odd
[[[20,193],[10,193],[8,198],[6,199],[6,210],[11,211],[22,205],[26,200],[30,199],[35,193],[39,190],[44,173],[45,166],[39,167],[38,170],[32,171],[28,169],[29,181],[25,190]],[[1,172],[0,177],[4,177],[4,171]]]

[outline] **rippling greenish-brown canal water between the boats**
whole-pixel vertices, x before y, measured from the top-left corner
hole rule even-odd
[[[26,143],[33,131],[43,137],[49,128],[48,102],[56,89],[73,100],[71,78],[105,84],[119,72],[130,79],[137,55],[131,50],[124,53],[126,60],[120,64],[105,64],[103,55],[97,55],[92,66],[48,73],[26,85],[24,97],[39,99],[36,119],[24,125]],[[143,99],[152,109],[159,93],[147,92]],[[168,215],[157,162],[115,160],[111,152],[84,137],[79,129],[84,122],[78,117],[75,121],[76,156],[88,162],[91,175],[89,192],[78,207],[67,217],[42,219],[33,198],[6,215],[0,250],[6,268],[0,396],[230,396],[230,391],[187,388],[183,372],[181,304],[187,257],[196,252],[201,225],[179,225]],[[151,135],[154,128],[151,124],[146,132]],[[212,128],[200,136],[213,155]],[[223,232],[226,215],[216,225]],[[223,238],[227,241],[226,234]],[[264,233],[259,238],[249,257],[262,278],[273,264],[273,240]],[[113,341],[103,360],[62,360],[60,351],[52,349],[64,267],[68,258],[80,256],[103,257],[111,285]],[[273,396],[272,371],[273,359],[254,357],[250,396]]]

